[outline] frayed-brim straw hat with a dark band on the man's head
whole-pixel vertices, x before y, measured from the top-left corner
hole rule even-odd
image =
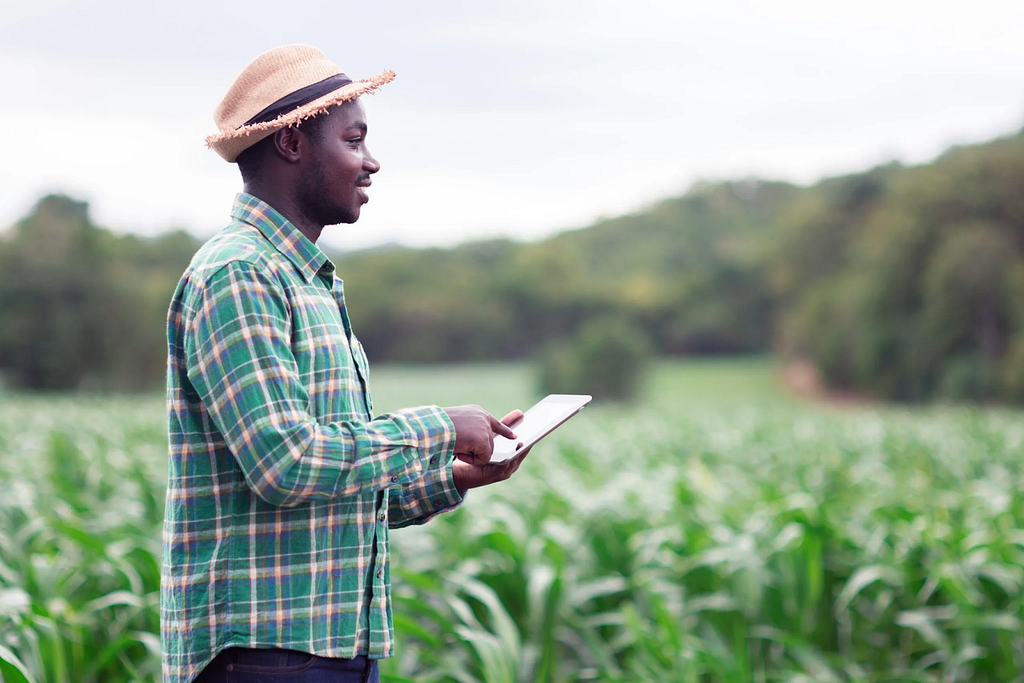
[[[206,145],[229,162],[273,131],[329,106],[373,92],[394,72],[352,81],[311,45],[285,45],[259,55],[243,70],[213,113],[220,132]]]

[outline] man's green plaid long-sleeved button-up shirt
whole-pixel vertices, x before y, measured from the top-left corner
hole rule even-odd
[[[164,681],[225,647],[390,656],[388,526],[462,502],[437,407],[372,419],[327,256],[240,195],[168,313]]]

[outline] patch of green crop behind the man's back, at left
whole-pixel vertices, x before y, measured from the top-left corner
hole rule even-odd
[[[0,402],[5,681],[160,680],[161,402]]]

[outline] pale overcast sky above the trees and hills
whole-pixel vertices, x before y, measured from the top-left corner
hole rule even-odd
[[[225,224],[204,145],[260,52],[308,43],[381,162],[333,249],[535,240],[696,180],[810,183],[1024,127],[1021,0],[34,0],[0,13],[0,227],[45,193],[119,232]]]

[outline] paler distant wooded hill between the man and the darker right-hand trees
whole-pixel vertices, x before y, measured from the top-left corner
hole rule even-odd
[[[665,353],[766,350],[763,267],[787,183],[705,183],[649,211],[521,244],[342,256],[369,352],[408,360],[517,357],[585,319],[625,316]]]

